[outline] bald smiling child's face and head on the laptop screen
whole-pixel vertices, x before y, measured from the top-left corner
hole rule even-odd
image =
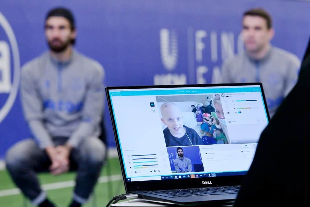
[[[167,125],[172,135],[184,135],[183,117],[178,106],[172,105],[164,108],[162,111],[162,122]]]

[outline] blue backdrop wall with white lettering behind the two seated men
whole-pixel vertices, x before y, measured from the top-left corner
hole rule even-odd
[[[105,68],[107,86],[210,83],[223,60],[240,52],[242,13],[272,14],[272,44],[300,59],[310,32],[310,2],[289,0],[111,0],[0,2],[0,159],[29,136],[18,83],[20,66],[47,49],[43,23],[51,7],[72,9],[78,51]],[[115,146],[107,106],[109,146]],[[126,113],[126,112],[124,112]]]

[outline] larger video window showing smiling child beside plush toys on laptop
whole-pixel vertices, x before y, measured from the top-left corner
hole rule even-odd
[[[166,146],[230,144],[220,94],[156,96]]]

